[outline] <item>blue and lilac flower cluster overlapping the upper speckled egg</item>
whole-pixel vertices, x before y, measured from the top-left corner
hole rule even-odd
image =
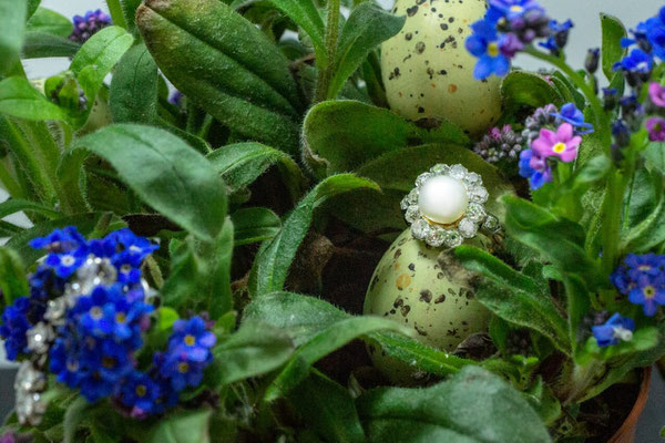
[[[536,39],[550,51],[559,51],[567,42],[573,23],[550,20],[535,0],[490,0],[484,18],[471,25],[467,50],[479,58],[473,75],[484,80],[492,74],[503,76],[511,59]]]

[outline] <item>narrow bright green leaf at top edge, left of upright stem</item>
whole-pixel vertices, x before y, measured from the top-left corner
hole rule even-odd
[[[270,3],[307,32],[316,53],[317,66],[327,66],[328,50],[324,41],[325,24],[314,2],[311,0],[270,0]]]

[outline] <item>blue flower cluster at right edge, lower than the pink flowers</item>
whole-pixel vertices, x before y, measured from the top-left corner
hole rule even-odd
[[[612,282],[632,303],[642,305],[645,316],[653,317],[665,305],[665,256],[628,254]]]

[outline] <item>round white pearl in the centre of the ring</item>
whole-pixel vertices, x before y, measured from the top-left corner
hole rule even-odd
[[[418,206],[430,220],[450,225],[459,220],[469,207],[469,195],[464,184],[456,178],[439,175],[420,187]]]

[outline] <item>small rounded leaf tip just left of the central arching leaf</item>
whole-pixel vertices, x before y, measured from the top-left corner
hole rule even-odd
[[[238,209],[231,219],[235,229],[235,246],[270,239],[282,228],[282,220],[277,214],[264,207]]]

